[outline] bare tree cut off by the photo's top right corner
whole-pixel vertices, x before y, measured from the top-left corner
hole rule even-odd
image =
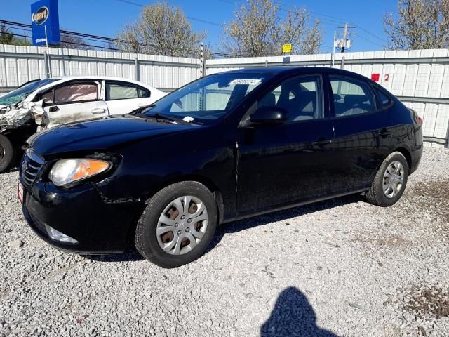
[[[449,46],[449,0],[398,0],[398,13],[384,15],[387,48]]]

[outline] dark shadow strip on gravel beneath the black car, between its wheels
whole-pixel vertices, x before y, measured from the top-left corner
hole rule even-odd
[[[254,218],[247,218],[244,220],[234,221],[232,223],[225,223],[217,227],[217,232],[213,241],[210,243],[205,253],[208,253],[214,249],[226,234],[241,232],[248,230],[249,228],[267,225],[269,223],[288,220],[297,216],[304,216],[306,214],[323,211],[325,209],[332,209],[338,206],[344,206],[346,204],[356,203],[357,201],[365,201],[365,198],[360,194],[351,194],[346,197],[339,197],[335,199],[329,199],[326,201],[319,201],[314,204],[307,204],[304,206],[298,206],[293,209],[286,209],[283,211],[276,211],[273,213],[267,213],[262,216],[255,216]],[[290,225],[286,221],[286,225]]]

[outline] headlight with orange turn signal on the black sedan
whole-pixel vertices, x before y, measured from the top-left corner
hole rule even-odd
[[[64,186],[83,180],[111,167],[109,161],[98,159],[62,159],[57,161],[48,175],[56,186]]]

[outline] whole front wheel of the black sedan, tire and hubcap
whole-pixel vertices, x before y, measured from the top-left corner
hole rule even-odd
[[[192,201],[186,202],[184,197],[192,197]],[[135,228],[135,248],[159,267],[185,265],[207,249],[217,228],[217,218],[217,204],[204,185],[196,181],[175,183],[149,199]],[[163,234],[158,236],[156,231]]]

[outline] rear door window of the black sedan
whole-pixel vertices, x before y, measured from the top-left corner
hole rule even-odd
[[[374,97],[368,84],[348,77],[330,76],[335,117],[375,111]]]

